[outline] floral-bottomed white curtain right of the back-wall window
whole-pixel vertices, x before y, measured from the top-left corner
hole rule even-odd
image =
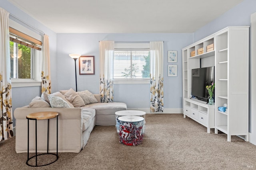
[[[164,43],[150,42],[150,112],[164,111]]]

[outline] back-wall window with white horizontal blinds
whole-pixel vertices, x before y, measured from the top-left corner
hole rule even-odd
[[[146,45],[141,43],[115,44],[114,80],[149,80],[149,78],[150,51],[148,43]]]

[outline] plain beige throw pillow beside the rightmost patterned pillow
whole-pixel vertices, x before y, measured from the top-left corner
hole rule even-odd
[[[72,88],[69,90],[60,90],[60,92],[74,107],[85,106],[84,100]]]

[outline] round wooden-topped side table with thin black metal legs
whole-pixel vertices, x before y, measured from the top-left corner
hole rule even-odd
[[[37,156],[39,155],[43,155],[43,154],[53,154],[56,155],[56,160],[58,160],[59,156],[58,156],[58,115],[59,113],[57,112],[52,112],[52,111],[43,111],[43,112],[36,112],[36,113],[30,113],[29,115],[26,116],[26,118],[28,119],[28,159],[26,164],[28,166],[38,166],[37,165]],[[56,154],[54,153],[49,153],[49,120],[52,118],[55,118],[57,120],[57,148],[56,148]],[[47,127],[47,153],[42,153],[42,154],[37,154],[37,120],[48,120],[48,127]],[[36,121],[36,155],[32,156],[29,158],[29,120],[35,120]],[[36,157],[36,165],[31,165],[28,164],[28,161],[32,158]],[[54,162],[56,162],[56,160],[54,160],[53,162],[50,162],[48,164],[43,164],[43,165],[39,165],[39,166],[45,166],[45,165],[49,165],[52,164]]]

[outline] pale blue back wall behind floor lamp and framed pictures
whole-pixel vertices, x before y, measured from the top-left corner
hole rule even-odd
[[[70,53],[95,56],[95,75],[77,74],[78,91],[99,94],[99,41],[164,41],[164,108],[182,108],[182,51],[192,43],[192,33],[80,33],[57,34],[57,90],[75,89],[74,60]],[[168,51],[178,51],[177,63],[168,63]],[[78,61],[77,61],[78,68]],[[168,64],[177,64],[177,77],[168,77]],[[150,108],[149,84],[114,84],[114,101],[128,108]]]

